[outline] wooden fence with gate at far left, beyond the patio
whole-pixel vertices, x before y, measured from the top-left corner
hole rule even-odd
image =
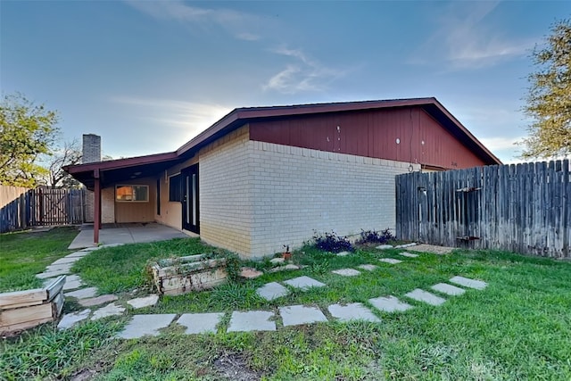
[[[83,189],[0,186],[0,233],[84,221]]]

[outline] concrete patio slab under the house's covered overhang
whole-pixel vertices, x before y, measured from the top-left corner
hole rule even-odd
[[[119,224],[105,226],[99,230],[99,244],[139,244],[154,241],[166,241],[172,238],[188,238],[175,228],[157,223],[148,224]],[[195,236],[195,235],[193,235]],[[93,227],[85,226],[79,235],[68,246],[70,250],[94,247]]]

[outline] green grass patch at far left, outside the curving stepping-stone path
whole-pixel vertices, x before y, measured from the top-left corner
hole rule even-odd
[[[41,287],[35,275],[71,253],[68,246],[77,235],[73,227],[0,234],[0,293]]]

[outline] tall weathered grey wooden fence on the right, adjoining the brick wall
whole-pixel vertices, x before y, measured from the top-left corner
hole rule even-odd
[[[405,240],[571,258],[569,162],[533,162],[396,177]]]

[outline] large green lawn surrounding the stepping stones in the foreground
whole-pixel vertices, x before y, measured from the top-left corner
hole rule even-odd
[[[94,286],[128,292],[144,284],[143,266],[148,258],[208,250],[197,239],[128,245],[90,254],[76,269]],[[394,251],[361,248],[348,257],[310,247],[302,251],[294,253],[294,261],[307,265],[302,270],[265,274],[203,293],[163,297],[155,307],[137,313],[277,311],[278,306],[302,303],[319,306],[327,315],[327,306],[334,302],[370,306],[370,298],[388,294],[402,298],[414,288],[428,290],[455,275],[482,279],[489,286],[448,297],[439,307],[407,300],[414,309],[378,312],[380,323],[279,327],[278,322],[276,332],[227,334],[227,313],[216,335],[184,335],[181,327],[173,326],[158,337],[129,341],[111,338],[128,317],[109,319],[115,322],[110,326],[89,322],[65,333],[41,327],[21,341],[4,341],[0,375],[11,369],[13,379],[67,377],[81,370],[103,380],[218,380],[225,379],[225,374],[234,375],[228,379],[241,375],[268,380],[571,379],[569,262],[457,251],[444,256],[425,253],[388,265],[377,260],[396,258]],[[378,268],[362,271],[359,277],[330,272],[363,263]],[[269,262],[254,265],[264,268]],[[301,275],[314,277],[327,287],[293,292],[273,302],[255,294],[264,283]],[[43,339],[46,336],[49,339]],[[84,337],[88,355],[78,344]],[[69,348],[62,345],[68,340],[74,343]],[[37,343],[43,341],[39,351]],[[32,351],[41,353],[37,360],[18,362],[22,352]],[[49,361],[51,351],[76,360],[54,365]]]

